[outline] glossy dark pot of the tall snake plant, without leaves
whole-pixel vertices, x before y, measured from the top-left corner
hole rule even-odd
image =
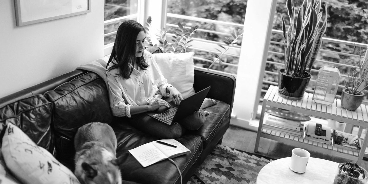
[[[291,77],[284,74],[285,69],[279,70],[279,94],[282,97],[291,99],[301,99],[307,89],[311,75],[308,77]],[[307,72],[306,72],[307,73]]]

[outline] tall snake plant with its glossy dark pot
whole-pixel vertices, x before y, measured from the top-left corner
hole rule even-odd
[[[282,17],[285,57],[284,68],[279,70],[279,94],[301,99],[326,31],[327,6],[323,8],[321,0],[304,0],[297,15],[293,0],[287,0],[286,6],[290,25],[286,31]]]

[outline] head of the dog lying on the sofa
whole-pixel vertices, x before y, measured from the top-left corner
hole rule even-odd
[[[116,159],[106,164],[83,162],[82,173],[77,176],[83,184],[121,184],[121,173]]]

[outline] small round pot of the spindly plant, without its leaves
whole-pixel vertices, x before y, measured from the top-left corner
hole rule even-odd
[[[356,110],[361,105],[364,99],[364,93],[360,92],[359,95],[353,95],[347,92],[348,89],[343,89],[341,93],[341,106],[346,110]]]

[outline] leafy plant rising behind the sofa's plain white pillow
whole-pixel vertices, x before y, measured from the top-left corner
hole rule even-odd
[[[153,46],[151,42],[151,22],[152,18],[151,16],[148,16],[148,19],[145,22],[144,28],[146,29],[146,39],[149,43],[149,45]],[[194,27],[188,27],[187,25],[183,25],[180,22],[178,22],[177,28],[162,28],[160,33],[156,34],[158,37],[159,44],[155,45],[160,47],[163,53],[183,53],[187,52],[187,49],[191,46],[191,44],[188,44],[192,42],[191,36],[196,33],[198,29],[198,25]],[[173,30],[173,39],[170,38],[170,40],[167,40],[167,32]],[[211,53],[213,55],[212,58],[210,57],[203,57],[204,59],[212,62],[207,70],[209,70],[215,63],[219,63],[220,65],[223,63],[222,60],[220,60],[221,57],[225,55],[227,51],[230,49],[233,49],[236,45],[238,45],[239,40],[243,37],[243,29],[237,29],[233,32],[230,32],[230,37],[225,37],[223,40],[224,44],[217,44],[220,48],[215,48],[219,53]]]

